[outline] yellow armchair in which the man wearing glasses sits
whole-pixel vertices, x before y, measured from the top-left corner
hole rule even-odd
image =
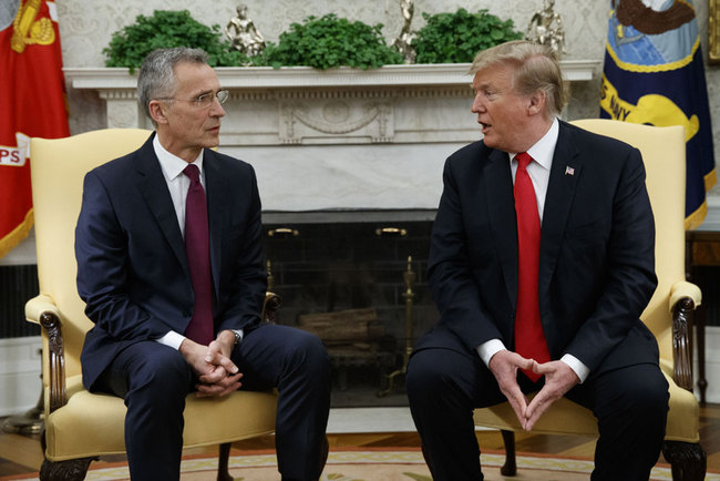
[[[32,139],[32,194],[40,294],[25,317],[42,326],[44,462],[41,480],[82,480],[90,462],[125,451],[125,406],[82,386],[80,351],[92,323],[78,296],[74,233],[88,171],[130,153],[150,131],[109,129],[60,140]],[[279,298],[268,293],[264,318],[272,319]],[[220,444],[218,479],[227,471],[230,443],[275,430],[274,392],[234,392],[222,399],[187,397],[184,447]]]

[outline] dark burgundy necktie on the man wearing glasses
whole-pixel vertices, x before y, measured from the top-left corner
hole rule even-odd
[[[200,172],[197,165],[188,165],[183,173],[191,180],[185,203],[185,252],[195,291],[195,310],[185,329],[185,336],[207,346],[215,338],[207,198],[200,184]]]

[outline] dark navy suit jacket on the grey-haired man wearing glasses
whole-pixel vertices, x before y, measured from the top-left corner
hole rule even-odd
[[[78,291],[94,326],[85,336],[83,383],[124,347],[183,334],[194,294],[185,243],[153,137],[85,176],[75,231]],[[253,167],[205,150],[215,332],[259,323],[267,277]]]

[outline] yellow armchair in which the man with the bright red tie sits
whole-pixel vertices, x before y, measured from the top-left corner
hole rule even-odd
[[[619,139],[642,153],[655,215],[658,287],[641,318],[658,340],[660,367],[670,385],[662,453],[672,467],[673,480],[702,480],[707,458],[699,444],[699,406],[692,393],[689,345],[689,324],[701,294],[685,277],[685,131],[680,126],[655,127],[600,119],[572,123]],[[510,405],[477,409],[474,418],[476,426],[502,430],[506,454],[502,472],[514,475],[514,432],[522,428]],[[563,398],[539,419],[533,432],[597,436],[597,421],[589,410]]]

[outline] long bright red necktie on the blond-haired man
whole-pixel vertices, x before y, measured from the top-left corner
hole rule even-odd
[[[539,318],[537,276],[539,270],[541,225],[533,181],[527,165],[533,162],[526,152],[517,154],[515,173],[515,213],[517,217],[517,308],[515,311],[515,351],[524,358],[547,362],[551,357]],[[523,369],[537,381],[539,376]]]

